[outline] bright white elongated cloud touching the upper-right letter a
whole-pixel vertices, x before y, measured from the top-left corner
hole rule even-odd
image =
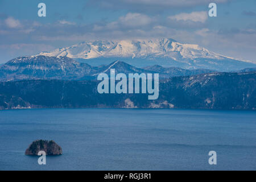
[[[177,21],[191,20],[192,22],[204,23],[208,18],[208,14],[207,14],[207,11],[193,11],[192,13],[180,13],[174,16],[168,16],[168,18],[175,19]]]

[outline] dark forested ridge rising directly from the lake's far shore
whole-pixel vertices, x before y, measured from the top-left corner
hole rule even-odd
[[[99,94],[97,84],[98,81],[89,80],[0,82],[0,109],[256,109],[256,72],[171,77],[160,81],[157,100],[148,100],[147,94]]]

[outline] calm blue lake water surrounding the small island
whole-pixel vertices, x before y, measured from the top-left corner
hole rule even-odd
[[[63,155],[24,151],[55,140]],[[209,165],[209,151],[217,165]],[[166,109],[0,111],[0,170],[255,170],[256,112]]]

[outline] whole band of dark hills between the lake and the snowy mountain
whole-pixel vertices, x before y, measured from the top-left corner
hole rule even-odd
[[[99,94],[97,75],[159,73],[159,98],[147,94]],[[0,66],[0,109],[46,107],[256,108],[256,68],[236,72],[152,65],[137,68],[123,61],[92,67],[69,57],[25,56]]]

